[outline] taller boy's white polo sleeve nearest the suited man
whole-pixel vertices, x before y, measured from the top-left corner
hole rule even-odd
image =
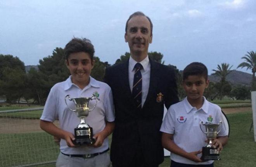
[[[104,97],[104,108],[106,112],[105,119],[108,122],[112,122],[115,120],[114,116],[114,102],[113,102],[113,95],[112,95],[112,90],[110,87],[107,87],[108,89],[106,90],[106,95]]]

